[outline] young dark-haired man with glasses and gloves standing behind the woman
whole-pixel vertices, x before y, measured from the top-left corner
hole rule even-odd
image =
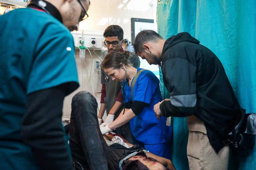
[[[118,25],[110,25],[108,26],[103,36],[106,38],[104,40],[104,44],[107,46],[108,52],[110,51],[121,51],[123,52],[122,45],[124,44],[123,39],[123,29]],[[130,63],[133,64],[133,67],[140,66],[139,56],[134,52],[130,52],[129,56]],[[98,114],[98,121],[101,124],[103,114],[107,113],[107,118],[105,122],[110,124],[114,119],[118,117],[118,115],[123,110],[123,97],[121,86],[118,81],[113,81],[108,75],[101,69],[101,106]],[[117,128],[116,133],[122,135],[129,143],[134,144],[134,137],[132,132],[130,131],[129,123]]]

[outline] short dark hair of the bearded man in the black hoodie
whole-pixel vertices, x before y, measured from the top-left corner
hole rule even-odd
[[[136,35],[133,47],[135,53],[144,52],[143,44],[146,42],[158,42],[160,39],[163,39],[158,33],[153,30],[143,30]]]

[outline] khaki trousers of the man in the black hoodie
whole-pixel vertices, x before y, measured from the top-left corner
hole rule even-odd
[[[190,170],[227,170],[229,147],[225,146],[216,153],[210,145],[203,121],[192,115],[187,118],[187,123],[187,158]]]

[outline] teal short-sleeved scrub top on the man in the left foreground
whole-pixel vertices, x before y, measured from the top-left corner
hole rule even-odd
[[[26,96],[63,83],[66,95],[78,88],[74,40],[57,19],[31,8],[1,15],[0,23],[0,169],[36,170],[20,134]]]

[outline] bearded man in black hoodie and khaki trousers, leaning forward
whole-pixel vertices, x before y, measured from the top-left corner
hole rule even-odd
[[[228,169],[223,140],[234,127],[238,106],[218,57],[186,32],[164,40],[144,30],[133,45],[149,64],[161,66],[170,92],[170,99],[154,106],[156,117],[187,117],[190,169]]]

